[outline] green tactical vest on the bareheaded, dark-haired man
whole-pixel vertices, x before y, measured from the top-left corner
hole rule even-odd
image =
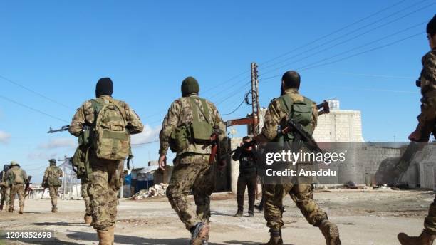
[[[293,119],[296,123],[299,123],[306,132],[313,133],[313,108],[312,100],[303,97],[303,101],[294,101],[291,96],[285,94],[277,99],[280,103],[282,110],[285,110],[288,114],[288,118]],[[281,125],[283,126],[283,125]],[[276,141],[292,141],[294,140],[294,132],[291,130],[286,135],[280,135]]]

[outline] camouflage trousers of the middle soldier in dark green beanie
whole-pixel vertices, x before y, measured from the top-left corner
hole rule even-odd
[[[210,195],[214,190],[214,167],[209,155],[178,156],[172,170],[167,197],[172,209],[190,230],[199,222],[209,222]],[[187,200],[192,191],[197,209]]]

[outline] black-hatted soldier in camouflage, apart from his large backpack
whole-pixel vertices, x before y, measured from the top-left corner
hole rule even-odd
[[[113,82],[110,78],[101,78],[95,87],[95,97],[97,101],[110,104],[120,110],[125,120],[125,129],[130,134],[142,132],[144,126],[141,123],[139,116],[130,106],[111,97],[113,93]],[[90,127],[93,132],[95,122],[98,115],[93,105],[95,100],[87,100],[78,108],[76,114],[71,121],[69,132],[79,137],[85,127]],[[115,109],[114,109],[115,110]],[[114,128],[118,125],[114,125]],[[110,131],[109,131],[110,132]],[[91,140],[92,141],[92,140]],[[97,230],[100,245],[113,244],[115,219],[117,215],[118,191],[123,184],[123,168],[124,160],[106,160],[97,157],[98,152],[95,152],[94,145],[88,150],[87,161],[90,164],[90,172],[88,172],[88,194],[90,197],[90,207],[92,209],[93,227]],[[128,147],[130,145],[122,145]],[[126,150],[126,149],[120,149]],[[116,152],[113,152],[116,154]]]

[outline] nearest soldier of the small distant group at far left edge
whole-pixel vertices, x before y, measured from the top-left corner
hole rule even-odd
[[[14,212],[15,196],[19,196],[19,213],[24,212],[24,189],[28,183],[28,177],[26,171],[21,169],[20,165],[16,161],[12,161],[9,165],[9,170],[6,172],[6,179],[9,181],[9,187],[11,188],[11,194],[9,195],[9,210],[8,212]]]

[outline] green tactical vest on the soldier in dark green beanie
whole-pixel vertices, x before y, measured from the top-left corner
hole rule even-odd
[[[201,110],[195,99],[200,100],[202,103]],[[188,103],[192,109],[192,122],[188,125],[180,125],[172,130],[170,136],[170,150],[175,153],[183,152],[187,150],[189,145],[204,145],[210,142],[210,137],[212,135],[214,122],[210,118],[209,105],[207,105],[206,100],[199,97],[188,97]],[[199,113],[204,115],[205,120],[199,119]]]

